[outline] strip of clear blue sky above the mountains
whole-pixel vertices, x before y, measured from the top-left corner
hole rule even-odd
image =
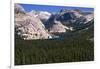
[[[94,8],[85,7],[71,7],[71,6],[54,6],[54,5],[35,5],[35,4],[20,4],[25,11],[30,12],[32,10],[36,11],[48,11],[48,12],[59,12],[61,9],[79,9],[81,11],[94,11]]]

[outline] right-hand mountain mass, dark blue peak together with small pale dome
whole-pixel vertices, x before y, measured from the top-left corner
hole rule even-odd
[[[52,14],[45,26],[49,32],[64,33],[83,28],[86,23],[94,19],[93,17],[93,13],[63,9],[57,14]]]

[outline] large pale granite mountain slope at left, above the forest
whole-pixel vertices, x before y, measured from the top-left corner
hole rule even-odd
[[[22,39],[47,39],[51,35],[48,34],[42,21],[34,16],[30,16],[23,12],[23,8],[15,4],[15,32]],[[16,12],[18,8],[18,11]],[[23,12],[23,13],[22,13]]]

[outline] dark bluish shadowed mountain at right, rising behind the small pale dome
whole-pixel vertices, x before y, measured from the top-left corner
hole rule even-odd
[[[67,31],[74,31],[77,28],[83,27],[94,19],[94,14],[89,12],[82,12],[79,10],[61,10],[58,14],[53,15],[47,22],[47,25],[55,24],[53,22],[60,22],[63,26],[67,27]],[[46,25],[46,26],[47,26]],[[62,28],[63,29],[63,28]]]

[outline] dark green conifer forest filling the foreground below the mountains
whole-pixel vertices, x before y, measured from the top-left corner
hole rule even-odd
[[[93,28],[93,26],[91,26]],[[92,36],[91,36],[92,35]],[[15,65],[94,60],[93,29],[64,34],[62,40],[15,39]]]

